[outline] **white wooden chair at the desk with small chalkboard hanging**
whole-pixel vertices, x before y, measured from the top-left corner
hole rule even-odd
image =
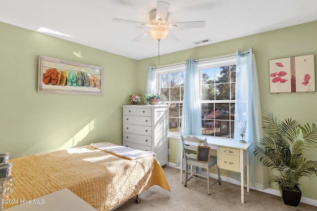
[[[186,137],[182,137],[182,143],[183,143],[183,156],[185,161],[185,183],[184,186],[187,187],[187,181],[191,178],[207,178],[207,185],[208,185],[208,195],[210,195],[210,187],[218,182],[219,185],[221,185],[221,178],[220,178],[220,170],[217,166],[217,173],[218,173],[218,179],[210,185],[210,179],[209,179],[209,169],[217,164],[217,157],[210,156],[209,163],[201,163],[196,161],[197,156],[197,147],[201,141],[203,143],[207,144],[207,139],[200,139],[193,135],[188,135]],[[212,150],[212,149],[211,149]],[[198,168],[206,169],[207,175],[202,174],[199,172]],[[190,178],[188,178],[188,173],[191,174]],[[201,178],[203,177],[203,178]]]

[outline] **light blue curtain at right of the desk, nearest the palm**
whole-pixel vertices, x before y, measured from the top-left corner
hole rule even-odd
[[[253,155],[255,146],[258,146],[259,140],[263,137],[257,66],[252,48],[246,51],[250,53],[240,53],[240,50],[236,53],[234,139],[239,140],[237,121],[246,120],[245,140],[253,142],[249,148],[250,186],[264,189],[270,187],[268,169]]]

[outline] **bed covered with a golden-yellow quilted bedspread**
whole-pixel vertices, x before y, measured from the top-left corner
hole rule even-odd
[[[109,211],[153,185],[170,191],[154,156],[130,160],[87,145],[10,162],[14,192],[9,199],[32,200],[68,188],[98,211]]]

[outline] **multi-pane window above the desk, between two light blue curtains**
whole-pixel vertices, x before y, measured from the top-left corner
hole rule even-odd
[[[235,67],[201,69],[203,135],[233,138]]]

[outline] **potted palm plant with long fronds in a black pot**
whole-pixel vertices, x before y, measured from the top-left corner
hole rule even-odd
[[[291,118],[279,121],[270,111],[265,112],[262,123],[265,135],[253,154],[264,166],[276,170],[269,181],[279,185],[284,204],[297,207],[302,197],[299,179],[317,176],[317,161],[304,157],[304,149],[317,146],[317,127],[314,123],[302,127]]]

